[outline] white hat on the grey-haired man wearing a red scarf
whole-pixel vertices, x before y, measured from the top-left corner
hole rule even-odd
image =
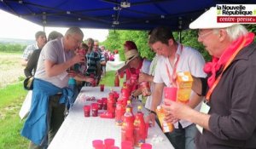
[[[217,9],[212,7],[204,14],[201,14],[196,20],[190,23],[190,29],[212,29],[212,28],[226,28],[235,25],[235,23],[218,23]]]

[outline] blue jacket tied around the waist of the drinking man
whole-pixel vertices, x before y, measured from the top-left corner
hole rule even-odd
[[[21,130],[21,135],[36,145],[45,145],[48,135],[49,96],[62,93],[59,103],[68,103],[73,97],[73,91],[68,88],[58,88],[52,83],[35,78],[33,81],[32,106]]]

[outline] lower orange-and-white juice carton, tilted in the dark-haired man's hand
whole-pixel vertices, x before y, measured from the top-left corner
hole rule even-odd
[[[164,133],[172,132],[174,126],[172,123],[166,123],[165,112],[161,106],[157,106],[156,114],[157,114],[157,117],[159,118],[161,129],[163,130],[163,132]]]

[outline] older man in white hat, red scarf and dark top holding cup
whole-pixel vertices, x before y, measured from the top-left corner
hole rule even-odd
[[[216,19],[217,9],[212,7],[189,25],[199,29],[198,41],[212,55],[204,67],[207,80],[195,78],[192,87],[206,95],[201,112],[167,100],[170,106],[164,107],[172,117],[198,125],[198,149],[256,148],[255,35],[240,24],[218,23]]]

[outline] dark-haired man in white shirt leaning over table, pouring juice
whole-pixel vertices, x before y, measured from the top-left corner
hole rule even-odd
[[[155,28],[148,43],[160,55],[154,74],[155,89],[150,108],[151,113],[148,115],[148,119],[154,124],[154,111],[161,103],[163,89],[165,86],[172,87],[169,74],[174,79],[176,72],[190,72],[195,77],[206,77],[203,72],[205,60],[197,50],[177,43],[172,36],[172,30],[168,27]],[[175,73],[174,76],[173,73]],[[199,110],[200,103],[201,97],[192,92],[188,105]],[[175,129],[168,135],[172,145],[178,149],[194,149],[194,138],[197,131],[195,124],[183,120],[178,121],[175,118],[172,123],[174,123]]]

